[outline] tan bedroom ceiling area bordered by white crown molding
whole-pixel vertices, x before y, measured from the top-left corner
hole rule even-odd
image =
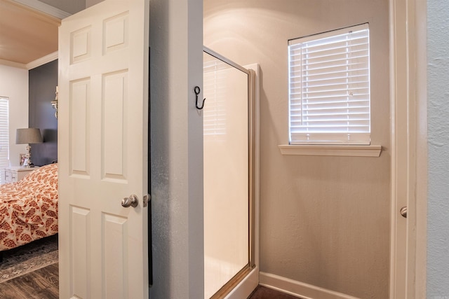
[[[28,64],[58,51],[60,19],[0,0],[0,63]]]

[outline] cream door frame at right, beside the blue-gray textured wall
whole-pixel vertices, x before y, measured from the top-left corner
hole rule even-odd
[[[426,0],[389,0],[391,299],[425,298],[427,244]],[[400,216],[408,207],[407,218]]]

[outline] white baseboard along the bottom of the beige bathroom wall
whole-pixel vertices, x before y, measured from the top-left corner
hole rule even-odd
[[[304,284],[300,281],[265,272],[259,273],[259,284],[303,299],[358,299],[350,295],[327,290],[326,288]]]

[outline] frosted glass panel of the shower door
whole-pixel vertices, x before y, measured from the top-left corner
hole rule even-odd
[[[248,74],[204,53],[204,276],[212,297],[249,265]]]

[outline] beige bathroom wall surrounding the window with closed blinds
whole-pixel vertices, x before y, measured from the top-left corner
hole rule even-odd
[[[372,144],[380,158],[285,156],[287,41],[370,23]],[[204,1],[204,45],[258,62],[260,270],[358,298],[389,281],[388,1]]]

